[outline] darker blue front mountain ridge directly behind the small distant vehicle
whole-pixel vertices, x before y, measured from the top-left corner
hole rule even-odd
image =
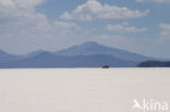
[[[41,52],[32,58],[0,64],[0,67],[101,67],[106,64],[111,67],[130,67],[138,63],[105,54],[61,57]]]

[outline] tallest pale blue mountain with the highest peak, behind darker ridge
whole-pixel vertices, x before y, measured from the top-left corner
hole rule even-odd
[[[78,46],[73,46],[68,49],[57,51],[54,52],[54,54],[64,55],[64,57],[107,54],[107,55],[113,55],[122,60],[136,61],[136,62],[155,59],[155,58],[145,57],[142,54],[129,52],[117,48],[106,47],[95,41],[87,41]]]

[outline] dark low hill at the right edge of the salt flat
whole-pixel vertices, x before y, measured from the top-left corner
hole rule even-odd
[[[169,62],[160,62],[160,61],[146,61],[138,64],[139,67],[170,67]]]

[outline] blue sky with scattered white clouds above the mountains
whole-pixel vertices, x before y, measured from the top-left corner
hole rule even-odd
[[[170,58],[170,0],[0,0],[0,49],[24,54],[85,41]]]

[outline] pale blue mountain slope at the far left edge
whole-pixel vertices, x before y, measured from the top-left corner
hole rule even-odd
[[[22,55],[14,55],[0,50],[0,63],[9,63],[22,59]]]

